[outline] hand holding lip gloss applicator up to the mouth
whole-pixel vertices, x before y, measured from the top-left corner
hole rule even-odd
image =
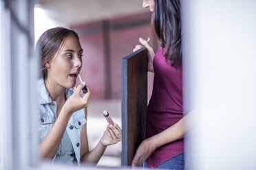
[[[81,93],[82,88],[85,84],[80,84],[77,88],[74,88],[73,95],[67,99],[63,108],[67,109],[68,112],[75,112],[82,108],[87,108],[89,106],[89,96],[91,95],[89,88],[87,87],[88,92],[86,94]]]

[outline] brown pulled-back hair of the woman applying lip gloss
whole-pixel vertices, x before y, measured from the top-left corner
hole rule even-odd
[[[44,80],[47,78],[47,62],[52,60],[67,36],[74,36],[79,40],[78,34],[74,30],[54,27],[44,32],[36,42],[36,50],[41,53],[41,73]]]

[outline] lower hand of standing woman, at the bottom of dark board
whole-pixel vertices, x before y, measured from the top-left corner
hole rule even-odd
[[[149,156],[157,149],[156,143],[153,142],[153,137],[147,138],[138,147],[134,159],[131,162],[131,167],[138,167],[142,165]]]

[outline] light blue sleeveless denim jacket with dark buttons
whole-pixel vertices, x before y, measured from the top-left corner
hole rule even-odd
[[[40,143],[49,134],[54,122],[56,121],[56,101],[52,101],[43,79],[38,82],[38,100],[39,100],[39,141]],[[73,90],[66,89],[66,97],[70,97],[73,94]],[[72,114],[70,120],[67,123],[67,134],[70,137],[72,147],[76,155],[78,165],[80,165],[80,149],[81,149],[81,130],[82,126],[86,123],[85,109],[78,110]],[[54,157],[55,159],[55,157]],[[53,160],[54,161],[54,160]]]

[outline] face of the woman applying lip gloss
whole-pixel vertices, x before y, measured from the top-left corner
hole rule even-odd
[[[65,88],[73,88],[82,67],[83,49],[74,36],[67,36],[54,58],[46,64],[47,80]]]

